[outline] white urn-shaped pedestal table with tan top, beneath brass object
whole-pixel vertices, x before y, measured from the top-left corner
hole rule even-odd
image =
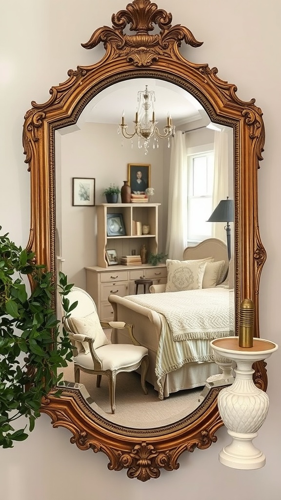
[[[217,354],[236,361],[235,380],[222,389],[217,397],[218,411],[232,442],[219,453],[219,461],[238,469],[255,469],[265,464],[264,454],[252,443],[263,424],[269,399],[252,380],[252,363],[266,359],[278,348],[277,344],[254,338],[252,347],[239,347],[238,337],[217,338],[210,342]]]

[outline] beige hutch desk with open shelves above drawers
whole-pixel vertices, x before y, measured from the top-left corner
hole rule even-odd
[[[167,268],[158,265],[108,265],[106,249],[115,249],[117,257],[131,255],[134,249],[139,254],[140,245],[145,243],[147,254],[158,251],[158,206],[159,203],[102,203],[97,209],[97,265],[86,267],[86,290],[97,306],[99,318],[113,319],[113,310],[108,295],[131,295],[135,292],[134,280],[151,279],[153,284],[166,283]],[[125,235],[107,235],[107,214],[122,214]],[[133,234],[133,221],[149,225],[149,234]]]

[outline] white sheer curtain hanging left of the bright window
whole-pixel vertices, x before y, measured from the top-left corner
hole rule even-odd
[[[166,253],[182,259],[187,246],[187,156],[185,134],[178,130],[171,145]]]

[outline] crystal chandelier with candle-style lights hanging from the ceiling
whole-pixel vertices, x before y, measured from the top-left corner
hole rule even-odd
[[[138,136],[138,147],[144,146],[144,154],[148,152],[150,138],[153,139],[153,149],[158,147],[158,137],[160,139],[168,139],[168,147],[170,146],[169,138],[174,136],[174,125],[170,114],[167,115],[167,123],[163,127],[163,134],[159,132],[155,120],[154,112],[155,95],[153,90],[148,90],[145,85],[144,91],[137,92],[137,110],[135,113],[134,132],[128,133],[128,125],[125,123],[124,111],[122,114],[122,122],[118,124],[118,133],[121,133],[126,139],[132,139],[134,135]]]

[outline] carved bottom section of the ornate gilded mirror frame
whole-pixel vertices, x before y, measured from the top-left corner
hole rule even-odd
[[[203,403],[188,417],[162,428],[128,429],[109,421],[105,425],[77,388],[68,387],[60,397],[49,393],[40,410],[51,417],[53,427],[68,428],[73,434],[70,442],[79,449],[105,453],[109,470],[127,469],[127,477],[144,482],[158,478],[161,469],[178,469],[183,451],[205,449],[217,440],[215,432],[222,425],[216,405],[218,390],[210,389]]]

